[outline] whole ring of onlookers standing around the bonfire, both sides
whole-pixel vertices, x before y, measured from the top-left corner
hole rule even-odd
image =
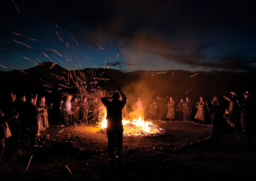
[[[200,97],[199,101],[195,104],[197,112],[193,117],[193,103],[189,97],[186,97],[185,100],[181,98],[177,103],[176,110],[175,102],[172,97],[169,97],[169,102],[165,107],[163,106],[163,99],[157,97],[152,101],[148,107],[148,112],[146,113],[145,105],[141,98],[138,98],[136,107],[138,115],[145,116],[152,120],[163,120],[162,110],[167,107],[168,112],[166,113],[166,116],[164,115],[166,120],[197,120],[201,124],[205,123],[205,111],[207,110],[211,114],[212,137],[215,139],[216,144],[219,144],[220,129],[223,120],[226,120],[231,128],[241,129],[243,134],[248,132],[248,128],[253,121],[253,102],[249,92],[247,91],[243,94],[243,102],[239,102],[238,96],[234,92],[230,92],[230,94],[230,98],[223,96],[223,100],[229,102],[229,106],[225,109],[221,106],[221,101],[223,100],[221,100],[220,97],[214,96],[211,101],[204,101],[203,97]],[[120,97],[125,96],[122,95]],[[13,140],[17,139],[18,136],[22,136],[24,139],[27,139],[31,147],[40,144],[39,136],[41,132],[49,128],[47,109],[52,108],[52,104],[48,106],[45,99],[45,96],[42,96],[41,99],[38,100],[38,95],[31,95],[28,99],[25,95],[22,95],[20,99],[17,99],[16,95],[11,96],[11,101],[9,105],[6,106],[8,108],[6,110],[8,111],[3,112],[1,110],[0,112],[0,158],[3,154],[4,140],[10,136],[12,136]],[[108,106],[109,99],[110,98],[102,98],[102,103],[107,109],[111,110]],[[126,99],[124,100],[126,103]],[[122,108],[125,107],[125,103],[122,101]],[[88,103],[86,97],[79,99],[72,95],[67,95],[65,100],[61,101],[60,104],[60,123],[63,124],[61,126],[95,122],[97,115],[93,114],[90,107],[91,105]],[[122,112],[125,112],[124,109]],[[124,115],[122,117],[124,117]],[[111,146],[111,150],[112,147],[113,146]]]

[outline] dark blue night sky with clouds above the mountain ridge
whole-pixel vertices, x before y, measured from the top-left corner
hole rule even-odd
[[[252,0],[1,0],[0,70],[255,70],[255,17]]]

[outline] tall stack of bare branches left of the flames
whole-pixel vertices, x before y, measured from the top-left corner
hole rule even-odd
[[[101,98],[110,96],[111,92],[103,90],[98,86],[98,83],[99,81],[106,82],[106,80],[109,79],[101,78],[104,72],[97,77],[94,69],[90,69],[87,73],[88,75],[80,70],[74,71],[73,75],[70,74],[70,78],[78,89],[79,94],[77,96],[79,99],[83,100],[84,98],[87,98],[87,101],[90,104],[89,111],[93,112],[93,115],[95,115],[100,122],[104,119],[104,109],[106,109]]]

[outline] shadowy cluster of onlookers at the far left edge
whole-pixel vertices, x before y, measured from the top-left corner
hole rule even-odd
[[[45,96],[38,100],[38,95],[30,95],[28,98],[22,95],[20,99],[11,95],[9,103],[0,110],[0,158],[3,155],[5,138],[12,136],[14,142],[24,139],[30,147],[35,147],[41,143],[41,132],[49,128],[47,109],[51,109],[52,104],[48,106],[45,103]]]

